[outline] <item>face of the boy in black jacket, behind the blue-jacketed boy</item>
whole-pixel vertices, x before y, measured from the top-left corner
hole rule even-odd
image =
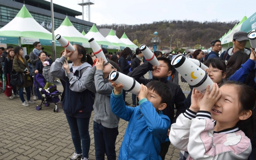
[[[165,63],[163,60],[159,60],[159,67],[154,69],[152,71],[152,75],[156,78],[163,78],[163,77],[168,77],[171,75],[172,71],[168,71],[168,65]]]

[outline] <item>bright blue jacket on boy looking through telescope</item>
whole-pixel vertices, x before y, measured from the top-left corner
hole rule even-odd
[[[166,140],[170,120],[146,98],[140,106],[125,106],[122,92],[111,94],[111,110],[115,115],[128,121],[121,144],[119,160],[162,160],[159,156],[161,143]]]

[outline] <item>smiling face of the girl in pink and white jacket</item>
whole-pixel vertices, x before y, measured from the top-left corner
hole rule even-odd
[[[211,117],[219,122],[229,123],[230,125],[236,124],[240,116],[240,101],[237,88],[233,87],[233,85],[224,85],[220,87],[220,90],[222,91],[222,96],[212,107]]]

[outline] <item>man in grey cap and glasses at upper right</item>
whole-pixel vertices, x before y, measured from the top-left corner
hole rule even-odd
[[[226,51],[222,52],[220,59],[225,60],[226,62],[229,60],[229,57],[236,53],[236,51],[243,51],[248,55],[251,53],[250,48],[246,48],[248,37],[246,32],[236,32],[233,35],[233,44],[234,47],[230,47]]]

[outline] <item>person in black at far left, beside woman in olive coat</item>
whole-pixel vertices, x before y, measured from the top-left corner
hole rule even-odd
[[[4,63],[4,74],[5,74],[6,80],[8,80],[7,79],[7,75],[8,75],[9,81],[11,81],[11,72],[13,70],[13,58],[14,58],[14,50],[11,48],[8,51],[8,54]],[[19,97],[19,95],[17,94],[17,87],[11,84],[8,84],[8,85],[13,87],[14,97]],[[13,99],[13,95],[10,97],[10,99]]]

